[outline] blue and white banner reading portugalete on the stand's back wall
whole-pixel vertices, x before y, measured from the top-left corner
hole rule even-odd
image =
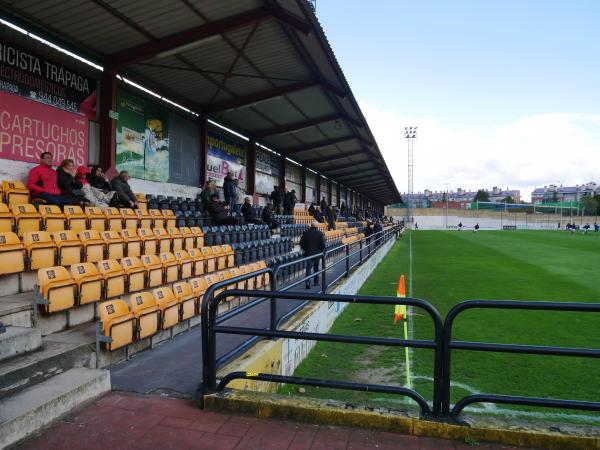
[[[227,172],[232,171],[233,177],[239,181],[239,187],[245,190],[246,143],[233,141],[212,130],[207,134],[207,178],[222,187]]]

